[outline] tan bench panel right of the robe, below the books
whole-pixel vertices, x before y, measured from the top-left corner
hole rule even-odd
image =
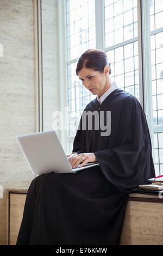
[[[163,204],[128,201],[121,245],[163,245]]]

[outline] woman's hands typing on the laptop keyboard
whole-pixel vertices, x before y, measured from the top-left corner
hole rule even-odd
[[[93,153],[82,153],[82,154],[76,154],[76,155],[73,154],[68,156],[68,161],[70,162],[72,168],[76,168],[79,163],[82,163],[80,164],[80,167],[82,167],[84,166],[85,163],[97,162],[97,159],[95,154]]]

